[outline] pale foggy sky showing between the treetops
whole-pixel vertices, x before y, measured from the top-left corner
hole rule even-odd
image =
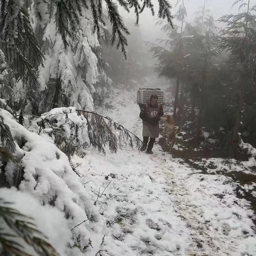
[[[194,19],[194,13],[198,10],[199,7],[203,5],[203,0],[184,0],[187,8],[188,16],[186,20],[188,22],[192,22]],[[171,13],[174,15],[176,13],[177,7],[175,8],[176,0],[169,0],[171,5],[173,6]],[[234,14],[238,11],[238,6],[234,6],[232,8],[234,0],[207,0],[206,9],[211,11],[212,16],[215,20],[218,20],[221,16],[225,14]],[[142,37],[145,41],[155,42],[157,38],[165,38],[164,34],[160,31],[160,26],[156,26],[156,18],[158,14],[158,0],[153,0],[155,16],[151,15],[149,10],[144,10],[144,12],[140,16],[139,27],[142,31]],[[251,4],[256,4],[256,0],[251,0]],[[119,9],[123,16],[127,18],[132,18],[135,21],[134,14],[131,14],[133,11],[130,11],[130,14],[123,12]],[[176,20],[173,20],[173,23],[177,24]],[[221,24],[216,24],[218,27]],[[129,28],[132,32],[132,27]]]

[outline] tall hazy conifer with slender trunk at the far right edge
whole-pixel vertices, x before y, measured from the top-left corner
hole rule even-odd
[[[236,0],[235,4],[240,4],[239,10],[246,7],[246,11],[220,18],[226,25],[221,31],[221,47],[230,51],[230,60],[237,73],[237,114],[231,141],[233,157],[238,151],[245,93],[256,84],[256,5],[251,7],[250,0]]]

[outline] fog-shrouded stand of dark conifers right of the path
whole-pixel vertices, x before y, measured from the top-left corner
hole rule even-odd
[[[202,0],[188,23],[186,3],[177,1],[179,26],[158,21],[167,39],[148,43],[155,71],[176,80],[173,116],[182,124],[192,122],[194,142],[203,140],[203,127],[219,138],[223,156],[238,157],[241,138],[256,145],[256,6],[234,1],[239,12],[216,20]]]

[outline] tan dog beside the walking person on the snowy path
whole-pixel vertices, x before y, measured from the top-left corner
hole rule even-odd
[[[175,122],[170,115],[163,115],[161,119],[166,122],[162,134],[166,137],[166,144],[170,146],[169,152],[171,152],[176,141],[176,135],[182,131],[182,128],[181,126],[175,127]]]

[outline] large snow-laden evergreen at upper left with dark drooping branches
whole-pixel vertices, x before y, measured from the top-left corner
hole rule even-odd
[[[129,33],[118,5],[105,0],[105,11],[102,4],[102,0],[0,0],[0,48],[17,80],[10,87],[17,93],[17,106],[37,115],[49,106],[73,105],[77,101],[79,108],[93,108],[93,84],[104,72],[98,72],[93,52],[98,41],[90,39],[89,34],[95,32],[99,40],[109,21],[109,41],[121,47],[126,56]],[[134,9],[137,23],[145,8],[154,14],[151,0],[144,0],[142,5],[138,0],[119,0],[118,4],[126,11]],[[159,5],[158,16],[171,24],[170,4],[159,0]],[[34,16],[30,17],[30,13]],[[51,71],[47,74],[49,63]]]

